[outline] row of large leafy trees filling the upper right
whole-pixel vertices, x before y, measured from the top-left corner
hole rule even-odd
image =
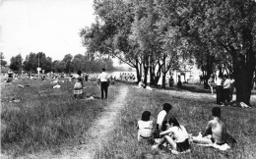
[[[203,76],[233,75],[249,104],[256,61],[254,0],[95,0],[96,23],[81,30],[91,54],[118,58],[157,84],[196,64]],[[142,77],[144,76],[144,77]]]

